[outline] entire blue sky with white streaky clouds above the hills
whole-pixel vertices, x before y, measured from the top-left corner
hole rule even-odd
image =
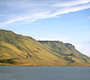
[[[0,0],[0,29],[71,43],[90,57],[90,0]]]

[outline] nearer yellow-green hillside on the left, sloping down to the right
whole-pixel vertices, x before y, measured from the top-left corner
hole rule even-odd
[[[0,30],[1,63],[54,65],[55,60],[62,61],[35,39]]]

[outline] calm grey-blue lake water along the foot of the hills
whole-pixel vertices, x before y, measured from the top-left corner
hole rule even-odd
[[[90,67],[0,66],[0,80],[90,80]]]

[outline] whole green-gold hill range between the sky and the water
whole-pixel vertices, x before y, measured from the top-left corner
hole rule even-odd
[[[0,30],[0,65],[90,66],[90,58],[70,43],[36,41],[29,36]]]

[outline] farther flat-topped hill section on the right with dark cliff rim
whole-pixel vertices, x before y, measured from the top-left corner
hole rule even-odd
[[[90,58],[80,53],[70,43],[63,43],[60,41],[39,41],[39,42],[47,46],[52,52],[61,55],[63,60],[69,61],[68,65],[90,64]]]

